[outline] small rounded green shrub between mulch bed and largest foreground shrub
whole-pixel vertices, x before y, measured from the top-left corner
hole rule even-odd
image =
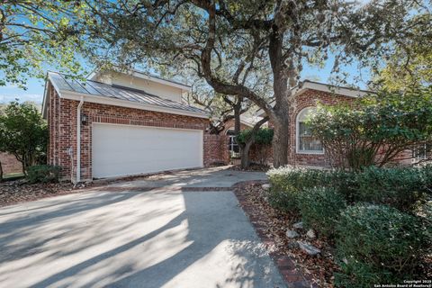
[[[347,202],[334,188],[316,187],[298,193],[297,202],[302,213],[302,221],[307,227],[330,237],[335,233],[340,211]]]

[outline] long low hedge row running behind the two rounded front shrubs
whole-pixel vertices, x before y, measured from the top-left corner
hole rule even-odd
[[[432,191],[432,166],[368,167],[357,173],[285,166],[267,175],[272,185],[269,200],[284,211],[298,210],[297,195],[313,187],[332,187],[348,203],[388,204],[401,211],[414,211]]]

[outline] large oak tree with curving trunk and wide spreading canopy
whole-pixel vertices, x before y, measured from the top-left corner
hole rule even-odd
[[[220,94],[249,99],[275,127],[274,166],[288,161],[292,89],[302,65],[335,59],[334,71],[354,58],[381,59],[395,37],[412,30],[417,1],[144,0],[86,1],[83,28],[92,57],[124,66],[166,63],[193,67]],[[227,61],[229,60],[227,65]],[[257,70],[269,71],[272,98],[256,89]],[[259,81],[258,81],[259,82]]]

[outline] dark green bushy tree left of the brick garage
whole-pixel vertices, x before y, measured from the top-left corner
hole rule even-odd
[[[24,173],[46,154],[48,128],[31,103],[10,103],[0,115],[0,147],[23,164]]]

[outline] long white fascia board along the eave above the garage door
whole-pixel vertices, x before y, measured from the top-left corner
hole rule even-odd
[[[165,113],[176,114],[176,115],[184,115],[184,116],[192,116],[197,118],[209,119],[208,114],[199,113],[199,112],[189,112],[189,111],[183,111],[183,110],[168,108],[168,107],[160,107],[160,106],[150,105],[145,103],[132,103],[127,100],[108,98],[105,96],[97,96],[94,94],[81,94],[81,93],[76,93],[67,90],[57,90],[57,92],[61,98],[65,98],[69,100],[79,101],[81,97],[84,96],[84,101],[89,103],[101,103],[101,104],[112,105],[112,106],[135,108],[139,110],[165,112]]]

